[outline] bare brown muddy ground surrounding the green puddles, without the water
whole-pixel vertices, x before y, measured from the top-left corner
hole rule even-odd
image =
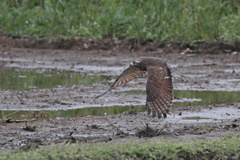
[[[126,42],[127,43],[127,42]],[[43,44],[41,44],[43,45]],[[169,63],[173,86],[178,90],[240,91],[239,50],[218,50],[214,54],[192,48],[145,45],[133,50],[119,46],[60,49],[33,49],[29,46],[1,46],[0,67],[55,69],[85,75],[119,75],[141,56],[161,57]],[[61,45],[60,45],[61,46]],[[106,45],[107,46],[107,45]],[[219,45],[218,45],[219,46]],[[41,48],[41,47],[40,47]],[[44,47],[43,47],[44,48]],[[51,47],[50,47],[51,48]],[[54,47],[53,47],[54,48]],[[61,48],[61,47],[60,47]],[[205,46],[206,48],[206,46]],[[203,47],[203,50],[205,49]],[[200,48],[201,49],[201,48]],[[198,48],[198,50],[200,50]],[[218,53],[219,51],[219,53]],[[182,76],[183,75],[183,76]],[[112,80],[113,81],[113,80]],[[104,97],[95,99],[109,85],[59,86],[31,91],[0,91],[0,110],[57,110],[113,105],[144,105],[144,94],[127,94],[123,90],[145,89],[144,78],[133,81]],[[207,119],[184,119],[200,116]],[[171,109],[166,119],[134,111],[116,115],[83,116],[27,121],[0,122],[0,149],[19,151],[65,141],[79,143],[121,143],[125,141],[189,141],[239,135],[240,102]]]

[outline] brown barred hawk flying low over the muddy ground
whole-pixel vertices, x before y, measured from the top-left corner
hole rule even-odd
[[[97,96],[99,98],[108,91],[126,84],[127,82],[143,76],[147,73],[147,101],[146,107],[148,115],[152,117],[167,117],[169,107],[172,105],[172,76],[171,71],[161,58],[142,57],[139,61],[133,61],[130,66],[125,69],[121,75],[115,80],[111,87],[103,94]]]

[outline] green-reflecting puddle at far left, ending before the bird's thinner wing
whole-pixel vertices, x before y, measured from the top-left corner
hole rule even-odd
[[[0,90],[31,90],[53,88],[58,85],[91,85],[107,76],[84,75],[58,70],[0,69]]]

